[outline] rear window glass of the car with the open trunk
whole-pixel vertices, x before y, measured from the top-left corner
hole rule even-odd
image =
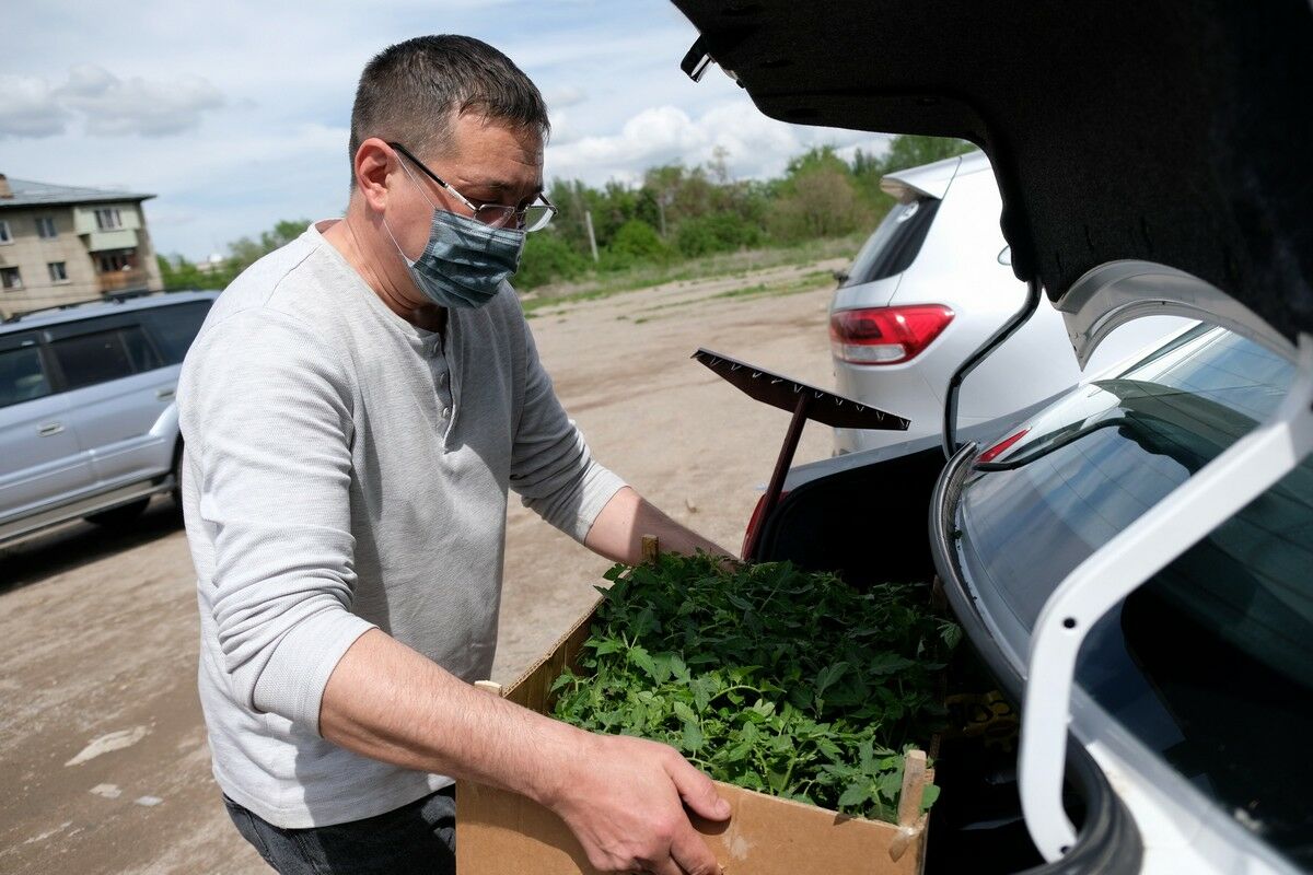
[[[981,466],[960,504],[982,601],[1028,639],[1062,579],[1268,417],[1283,357],[1195,332],[1078,387],[1039,434]],[[1173,561],[1091,630],[1077,682],[1199,790],[1313,863],[1313,462]],[[989,593],[986,598],[986,593]],[[1027,640],[1012,641],[1025,652]]]

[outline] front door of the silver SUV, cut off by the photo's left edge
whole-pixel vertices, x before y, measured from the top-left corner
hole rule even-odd
[[[38,333],[0,336],[0,522],[93,484]]]

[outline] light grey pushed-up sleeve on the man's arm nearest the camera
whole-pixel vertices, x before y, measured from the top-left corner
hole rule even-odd
[[[319,729],[323,689],[373,628],[351,613],[351,395],[295,319],[242,311],[197,338],[180,386],[204,597],[234,694]]]

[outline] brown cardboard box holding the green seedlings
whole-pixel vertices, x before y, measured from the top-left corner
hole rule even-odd
[[[540,714],[551,683],[588,639],[593,610],[566,632],[506,698]],[[492,685],[495,687],[495,685]],[[910,756],[901,825],[861,820],[717,782],[733,807],[727,824],[695,823],[726,875],[916,875],[926,855],[920,799],[934,773]],[[551,811],[517,794],[462,781],[456,790],[456,861],[461,875],[596,875],[574,834]]]

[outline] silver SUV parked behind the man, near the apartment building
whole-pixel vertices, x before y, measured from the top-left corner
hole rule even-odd
[[[0,323],[0,544],[79,517],[123,523],[177,489],[177,375],[217,296],[156,294]]]

